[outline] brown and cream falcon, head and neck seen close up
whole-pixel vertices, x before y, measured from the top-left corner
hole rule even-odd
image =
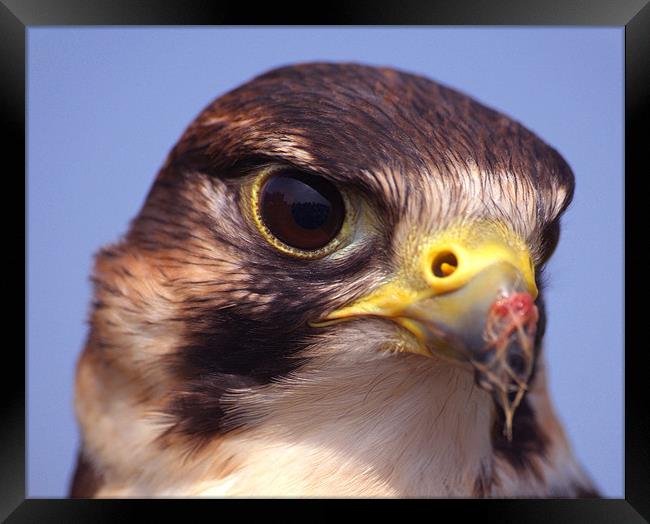
[[[574,177],[421,76],[221,96],[96,256],[72,497],[588,497],[542,272]]]

